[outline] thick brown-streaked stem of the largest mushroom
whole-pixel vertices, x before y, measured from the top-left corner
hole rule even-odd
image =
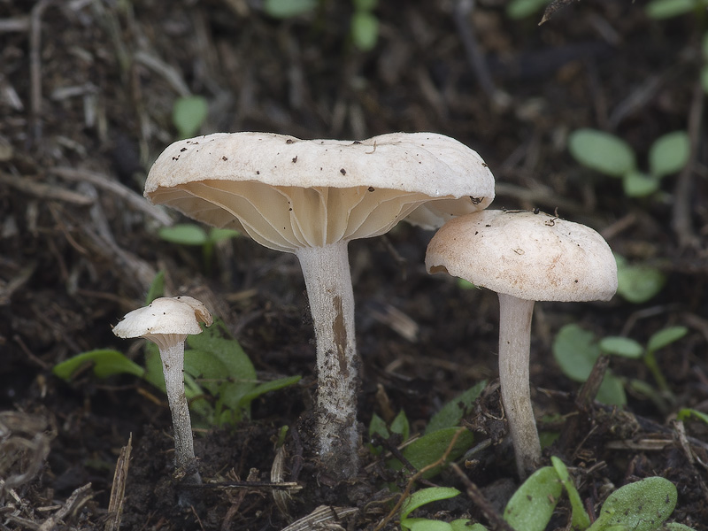
[[[358,472],[359,361],[347,242],[296,250],[317,341],[316,435],[322,466],[335,479]]]

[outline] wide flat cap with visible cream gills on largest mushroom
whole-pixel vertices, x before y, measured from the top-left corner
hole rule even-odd
[[[486,208],[494,177],[475,151],[435,133],[361,142],[215,133],[168,146],[144,195],[294,252],[381,235],[409,214],[412,223],[440,227]]]

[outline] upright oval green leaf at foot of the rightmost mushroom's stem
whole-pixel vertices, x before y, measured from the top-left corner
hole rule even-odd
[[[532,473],[514,492],[504,509],[504,520],[515,529],[543,531],[553,515],[563,485],[552,466]]]

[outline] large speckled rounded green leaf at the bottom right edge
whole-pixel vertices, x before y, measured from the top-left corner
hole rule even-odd
[[[604,501],[600,515],[588,531],[622,526],[632,531],[655,531],[676,506],[671,481],[650,477],[615,490]]]

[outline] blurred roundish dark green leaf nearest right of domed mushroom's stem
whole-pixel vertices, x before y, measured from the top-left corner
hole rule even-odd
[[[595,334],[576,324],[558,330],[552,350],[560,369],[574,381],[588,380],[596,359],[600,357]]]

